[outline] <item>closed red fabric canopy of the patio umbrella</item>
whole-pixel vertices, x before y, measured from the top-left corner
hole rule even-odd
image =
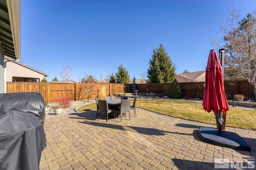
[[[226,113],[229,110],[226,94],[224,91],[224,82],[222,75],[222,66],[215,50],[211,50],[205,72],[204,83],[204,110],[208,113],[212,110]]]

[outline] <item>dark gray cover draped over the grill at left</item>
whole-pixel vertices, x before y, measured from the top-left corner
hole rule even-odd
[[[44,133],[39,92],[0,94],[0,169],[39,170]]]

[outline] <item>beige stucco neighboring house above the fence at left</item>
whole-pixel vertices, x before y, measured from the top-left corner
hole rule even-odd
[[[4,61],[7,59],[4,58]],[[6,63],[6,82],[40,82],[49,75],[20,62]]]

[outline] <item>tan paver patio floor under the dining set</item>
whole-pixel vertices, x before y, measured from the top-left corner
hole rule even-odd
[[[214,158],[243,161],[256,156],[256,131],[226,128],[252,151],[204,143],[200,127],[216,127],[136,109],[131,121],[96,118],[96,111],[46,117],[47,147],[40,170],[214,169]],[[209,113],[210,114],[210,113]],[[214,117],[214,116],[213,116]],[[255,163],[254,163],[255,164]]]

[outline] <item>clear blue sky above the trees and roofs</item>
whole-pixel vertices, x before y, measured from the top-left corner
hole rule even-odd
[[[177,74],[202,71],[232,6],[244,18],[256,0],[22,0],[20,62],[48,81],[61,80],[66,65],[75,81],[116,73],[120,64],[139,79],[162,43]]]

